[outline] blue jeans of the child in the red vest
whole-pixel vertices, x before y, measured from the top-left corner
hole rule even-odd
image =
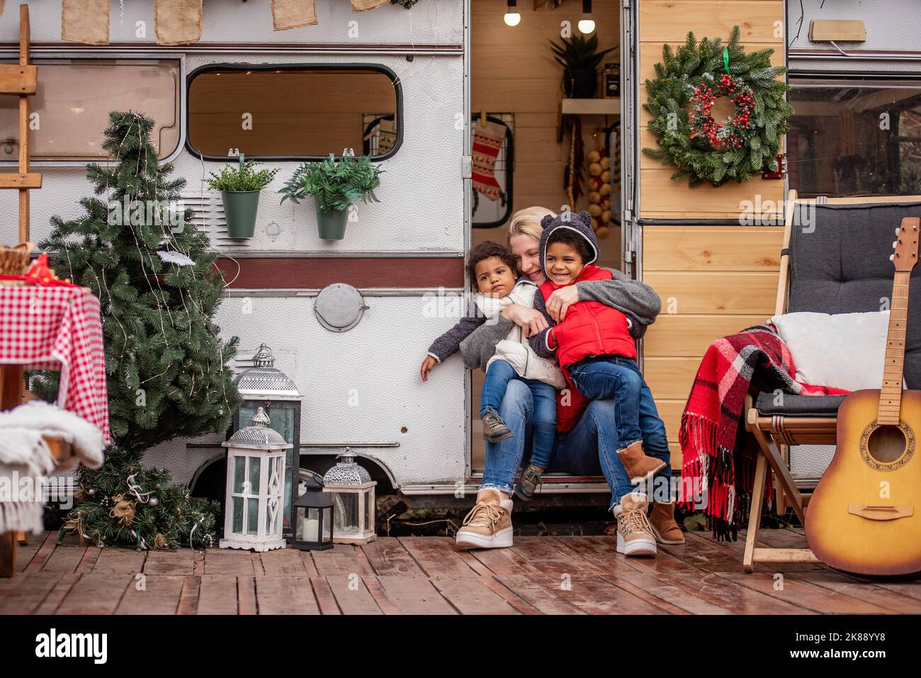
[[[587,357],[570,365],[567,371],[576,390],[586,398],[614,399],[614,425],[621,450],[644,438],[639,427],[639,405],[646,382],[635,360],[619,356]]]

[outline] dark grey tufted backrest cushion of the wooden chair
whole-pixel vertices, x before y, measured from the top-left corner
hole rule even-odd
[[[859,313],[889,308],[895,269],[889,256],[904,216],[921,203],[797,204],[790,231],[789,312]],[[905,380],[921,386],[921,266],[908,305]]]

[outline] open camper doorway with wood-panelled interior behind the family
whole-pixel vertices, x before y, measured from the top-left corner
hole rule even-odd
[[[566,2],[552,8],[554,5],[546,3],[542,9],[535,10],[531,3],[519,3],[520,22],[511,27],[504,20],[505,0],[471,3],[469,82],[474,181],[469,195],[472,213],[469,240],[472,246],[486,240],[507,244],[511,216],[532,205],[541,205],[557,213],[566,209],[565,205],[575,211],[589,209],[589,193],[594,190],[589,176],[589,153],[599,150],[606,152],[611,160],[608,182],[612,191],[608,197],[612,200],[613,216],[608,231],[600,238],[598,263],[623,270],[621,107],[619,98],[602,96],[605,64],[620,64],[621,61],[621,6],[616,0],[593,3],[595,29],[583,35],[578,29],[578,21],[582,18],[581,3]],[[598,67],[598,87],[593,97],[571,99],[564,91],[563,68],[554,61],[551,41],[559,44],[568,41],[570,36],[577,39],[597,36],[599,51],[612,49]],[[611,73],[609,69],[609,75]],[[575,205],[564,185],[574,130],[582,146],[579,149],[577,145],[580,157],[575,169],[580,189]],[[493,177],[487,176],[484,180],[475,158],[478,151],[482,152],[489,145],[497,149],[495,183],[491,181]],[[485,443],[479,418],[483,380],[482,371],[472,372],[468,485],[478,484],[484,469]],[[577,478],[548,474],[542,486],[542,494],[607,491],[608,486],[600,476]]]

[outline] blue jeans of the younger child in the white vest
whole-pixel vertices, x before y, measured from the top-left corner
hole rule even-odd
[[[542,469],[550,463],[556,433],[556,390],[550,384],[535,379],[522,379],[506,360],[494,360],[486,370],[481,395],[480,416],[487,412],[499,415],[508,384],[518,380],[530,389],[532,408],[530,462]],[[505,417],[503,417],[504,419]],[[506,425],[508,422],[506,421]],[[509,427],[511,429],[511,427]],[[511,429],[514,433],[514,429]],[[517,435],[517,434],[516,434]]]

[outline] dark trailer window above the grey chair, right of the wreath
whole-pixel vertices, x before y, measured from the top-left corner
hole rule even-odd
[[[790,188],[802,197],[921,193],[921,80],[789,83]]]

